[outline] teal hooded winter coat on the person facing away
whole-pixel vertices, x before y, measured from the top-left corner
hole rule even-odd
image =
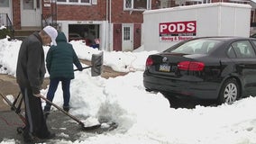
[[[78,69],[82,69],[78,56],[73,46],[67,42],[63,32],[59,32],[56,38],[57,46],[51,46],[46,57],[46,67],[52,78],[73,79],[75,64]]]

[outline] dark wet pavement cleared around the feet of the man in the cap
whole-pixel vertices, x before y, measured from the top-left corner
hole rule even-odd
[[[14,139],[17,144],[24,144],[23,134],[21,128],[23,128],[23,121],[14,111],[0,112],[0,143],[5,139]],[[85,118],[78,118],[79,121],[85,121]],[[101,122],[108,123],[109,121],[100,120]],[[69,116],[60,111],[51,112],[47,118],[48,128],[51,132],[56,134],[56,137],[49,140],[40,139],[37,142],[40,143],[55,143],[54,139],[62,139],[63,141],[75,141],[80,138],[81,135],[96,135],[117,128],[116,123],[111,123],[109,128],[99,127],[92,130],[84,130],[77,121],[70,119]]]

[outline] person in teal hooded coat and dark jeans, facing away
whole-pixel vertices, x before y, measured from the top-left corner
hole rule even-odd
[[[73,64],[78,67],[79,71],[82,71],[83,68],[73,46],[67,42],[67,38],[62,31],[58,32],[56,42],[57,46],[51,46],[46,56],[46,67],[50,74],[50,87],[47,99],[52,102],[60,81],[64,99],[63,110],[69,112],[69,86],[71,79],[75,77]],[[50,103],[46,103],[44,106],[46,116],[50,112],[50,106]]]

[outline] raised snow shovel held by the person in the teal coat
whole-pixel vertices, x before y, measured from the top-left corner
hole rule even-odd
[[[103,65],[103,52],[98,54],[93,54],[91,59],[91,66],[83,67],[82,69],[87,69],[91,67],[91,76],[100,76],[102,73],[102,65]],[[78,71],[75,69],[74,71]]]

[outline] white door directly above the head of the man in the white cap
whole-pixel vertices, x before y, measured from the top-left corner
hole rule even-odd
[[[22,27],[41,26],[41,0],[21,0]]]

